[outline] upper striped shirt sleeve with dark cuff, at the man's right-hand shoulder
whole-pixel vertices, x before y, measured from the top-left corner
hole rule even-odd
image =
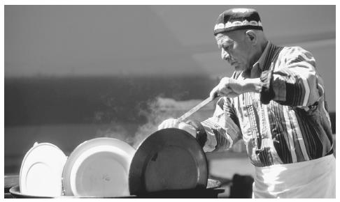
[[[264,104],[274,100],[290,107],[309,107],[323,95],[323,88],[318,84],[316,61],[301,47],[283,49],[275,66],[272,63],[260,79]]]

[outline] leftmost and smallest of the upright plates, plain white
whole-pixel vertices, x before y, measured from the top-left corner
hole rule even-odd
[[[24,155],[20,168],[22,194],[61,196],[66,155],[52,143],[35,143]]]

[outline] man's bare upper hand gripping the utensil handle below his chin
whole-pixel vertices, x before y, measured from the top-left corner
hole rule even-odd
[[[210,92],[210,97],[215,98],[218,95],[234,98],[242,93],[245,93],[245,82],[235,80],[229,77],[224,77],[220,83]]]

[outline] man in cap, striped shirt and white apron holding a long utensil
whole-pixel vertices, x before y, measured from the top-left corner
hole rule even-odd
[[[225,10],[214,35],[235,72],[210,93],[220,96],[213,117],[198,125],[168,119],[159,129],[204,134],[205,151],[243,139],[255,166],[254,198],[335,198],[330,118],[312,54],[269,42],[253,9]]]

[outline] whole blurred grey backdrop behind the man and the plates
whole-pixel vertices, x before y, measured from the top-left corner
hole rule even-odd
[[[233,72],[213,37],[216,18],[232,7],[255,8],[269,40],[315,56],[334,122],[335,6],[6,5],[5,174],[19,173],[36,141],[66,155],[95,137],[136,148],[165,118],[207,98]],[[242,143],[207,156],[216,178],[252,175]]]

